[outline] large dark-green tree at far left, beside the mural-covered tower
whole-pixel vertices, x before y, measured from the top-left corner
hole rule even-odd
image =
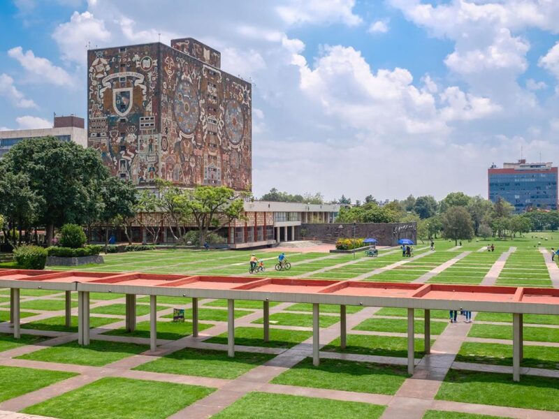
[[[85,222],[99,182],[109,175],[94,149],[54,137],[19,142],[1,164],[6,173],[26,175],[30,191],[41,198],[38,223],[46,226],[48,244],[52,244],[55,226]]]

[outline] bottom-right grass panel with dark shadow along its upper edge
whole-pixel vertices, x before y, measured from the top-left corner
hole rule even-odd
[[[451,369],[441,385],[439,400],[559,411],[559,379]]]

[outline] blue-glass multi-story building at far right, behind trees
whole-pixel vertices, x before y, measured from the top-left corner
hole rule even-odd
[[[548,163],[503,163],[487,170],[489,199],[502,198],[516,213],[530,209],[557,210],[558,168]]]

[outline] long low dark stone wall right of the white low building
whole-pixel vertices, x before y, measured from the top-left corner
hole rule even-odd
[[[355,237],[373,237],[380,246],[395,246],[400,239],[416,243],[416,223],[356,223]],[[354,223],[304,223],[300,239],[335,242],[338,238],[354,237]]]

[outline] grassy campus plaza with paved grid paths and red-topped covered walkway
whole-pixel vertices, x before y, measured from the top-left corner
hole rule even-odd
[[[117,253],[80,267],[84,274],[51,267],[66,272],[41,271],[36,280],[3,271],[0,369],[8,379],[0,410],[57,418],[557,418],[558,306],[544,300],[555,298],[559,271],[537,240],[497,241],[495,252],[481,240],[437,240],[435,251],[420,242],[412,258],[398,247],[377,258],[291,249],[289,272],[253,275],[251,251]],[[280,250],[256,256],[271,267]],[[153,274],[184,285],[158,286]],[[460,297],[411,296],[449,291],[438,284],[456,284]],[[489,286],[491,298],[461,295],[478,286]],[[232,291],[238,287],[247,289]],[[379,300],[370,290],[388,294]],[[472,323],[449,322],[448,309],[460,307],[473,311]],[[175,309],[184,309],[184,322],[173,321]]]

